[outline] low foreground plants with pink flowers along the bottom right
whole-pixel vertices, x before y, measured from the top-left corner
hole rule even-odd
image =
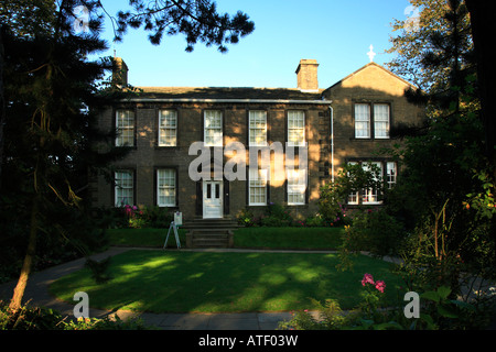
[[[313,314],[306,309],[292,311],[292,318],[281,321],[279,329],[466,330],[484,329],[489,322],[487,319],[477,319],[483,311],[474,305],[451,299],[451,289],[448,286],[421,294],[420,317],[408,319],[402,307],[385,307],[381,302],[384,282],[374,282],[371,275],[365,274],[362,285],[365,287],[362,293],[363,300],[355,309],[344,312],[337,301],[328,299],[325,305],[317,302],[317,311]]]

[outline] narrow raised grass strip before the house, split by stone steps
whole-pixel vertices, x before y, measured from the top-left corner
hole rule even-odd
[[[169,229],[110,229],[112,245],[162,248]],[[236,248],[263,249],[337,249],[343,228],[241,228],[235,231]],[[172,231],[171,231],[172,232]],[[186,244],[186,231],[180,229],[182,246]],[[175,248],[173,233],[169,248]]]

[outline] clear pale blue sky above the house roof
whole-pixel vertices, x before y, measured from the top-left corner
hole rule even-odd
[[[115,14],[128,0],[103,0]],[[217,0],[218,12],[247,13],[255,31],[222,54],[216,46],[197,43],[186,53],[182,34],[166,36],[157,46],[144,30],[128,30],[114,43],[110,22],[103,37],[109,50],[103,56],[122,57],[129,84],[140,87],[267,87],[296,88],[300,59],[316,59],[320,88],[327,88],[369,63],[391,59],[391,23],[406,20],[408,0]],[[408,11],[407,11],[408,12]]]

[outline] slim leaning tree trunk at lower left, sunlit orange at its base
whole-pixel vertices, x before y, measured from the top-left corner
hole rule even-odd
[[[14,288],[12,299],[9,307],[17,311],[22,306],[22,297],[28,285],[28,278],[31,273],[33,258],[36,251],[36,232],[37,232],[37,217],[39,217],[39,200],[37,196],[33,199],[33,207],[31,209],[31,228],[28,240],[28,252],[22,263],[21,275],[19,276],[18,285]]]

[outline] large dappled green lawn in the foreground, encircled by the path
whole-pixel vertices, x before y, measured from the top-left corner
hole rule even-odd
[[[360,279],[386,282],[395,299],[399,278],[389,264],[359,256],[354,272],[338,272],[336,254],[205,253],[132,250],[112,257],[105,285],[82,270],[53,283],[56,297],[74,304],[86,292],[93,308],[151,312],[238,312],[312,309],[310,298],[337,299],[343,309],[360,301]]]

